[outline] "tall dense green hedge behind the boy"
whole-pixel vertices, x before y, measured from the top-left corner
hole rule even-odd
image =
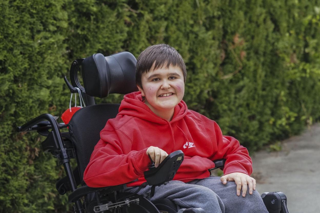
[[[71,62],[167,43],[184,57],[190,109],[250,151],[319,119],[319,1],[0,2],[0,212],[67,212],[57,160],[15,127],[60,116]],[[111,95],[102,102],[120,102]],[[97,102],[101,102],[97,100]]]

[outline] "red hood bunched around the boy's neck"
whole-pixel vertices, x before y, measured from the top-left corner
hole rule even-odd
[[[160,118],[144,103],[141,92],[138,91],[124,95],[118,115],[129,115],[158,124],[168,124],[182,119],[187,113],[187,104],[181,100],[180,103],[174,107],[173,117],[170,122]]]

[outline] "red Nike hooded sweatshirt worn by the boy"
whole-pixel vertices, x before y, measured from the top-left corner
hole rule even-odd
[[[184,152],[184,160],[174,180],[189,182],[209,177],[212,160],[226,159],[224,174],[252,173],[248,151],[230,136],[222,136],[218,124],[188,110],[184,101],[174,108],[171,121],[154,114],[142,101],[140,92],[126,94],[119,113],[109,119],[100,132],[101,139],[92,152],[84,171],[84,181],[90,187],[119,185],[139,186],[146,179],[143,172],[150,160],[146,151],[157,146],[170,154]]]

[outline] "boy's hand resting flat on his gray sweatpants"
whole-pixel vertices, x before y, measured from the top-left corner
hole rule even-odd
[[[220,178],[222,184],[227,184],[228,181],[235,181],[237,185],[237,195],[240,196],[240,190],[242,187],[242,197],[245,197],[247,193],[247,185],[249,185],[249,194],[252,194],[252,190],[256,190],[256,180],[247,174],[241,172],[233,172],[228,175],[224,175]]]

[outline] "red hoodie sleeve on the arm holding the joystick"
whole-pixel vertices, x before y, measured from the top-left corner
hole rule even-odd
[[[120,130],[110,127],[105,127],[100,132],[100,137],[84,171],[84,182],[88,186],[125,184],[143,176],[150,163],[146,155],[147,148],[140,151],[131,150],[131,139]]]

